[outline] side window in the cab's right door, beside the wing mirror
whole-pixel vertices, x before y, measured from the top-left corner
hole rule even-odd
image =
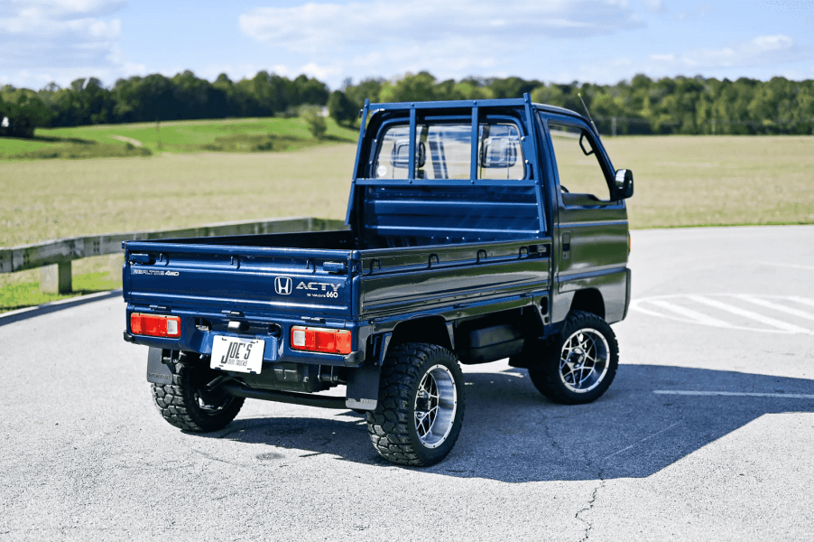
[[[605,172],[599,164],[598,155],[591,145],[587,130],[578,126],[549,121],[551,144],[557,171],[560,174],[560,190],[565,203],[581,203],[585,198],[609,201]]]

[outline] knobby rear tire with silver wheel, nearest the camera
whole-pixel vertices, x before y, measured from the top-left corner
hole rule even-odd
[[[427,392],[433,386],[436,399]],[[464,376],[455,355],[434,344],[393,347],[384,360],[378,405],[367,413],[376,452],[402,465],[438,463],[458,440],[463,419]]]

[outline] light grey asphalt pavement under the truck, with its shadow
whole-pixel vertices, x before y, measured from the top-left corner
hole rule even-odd
[[[633,232],[597,402],[464,368],[458,444],[384,462],[351,411],[165,423],[121,298],[0,317],[0,540],[810,540],[814,227]],[[36,314],[36,315],[34,315]]]

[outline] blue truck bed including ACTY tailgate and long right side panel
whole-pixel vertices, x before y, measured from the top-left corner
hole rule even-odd
[[[125,301],[359,320],[540,293],[550,239],[354,246],[350,231],[128,241]]]

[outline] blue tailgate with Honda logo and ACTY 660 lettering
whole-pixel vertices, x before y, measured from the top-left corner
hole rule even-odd
[[[350,251],[125,243],[125,301],[190,310],[348,317]]]

